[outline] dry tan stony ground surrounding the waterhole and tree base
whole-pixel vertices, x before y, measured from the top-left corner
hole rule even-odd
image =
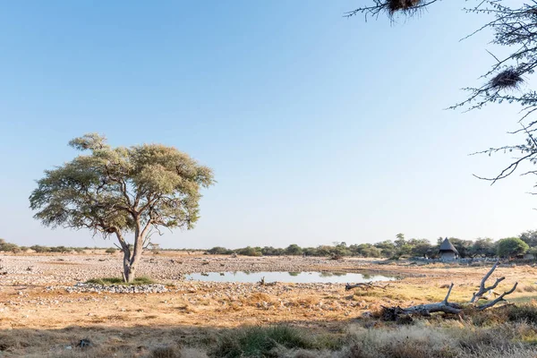
[[[170,342],[200,345],[204,340],[214,339],[219,328],[278,322],[337,332],[345,325],[360,320],[365,312],[378,310],[380,305],[405,307],[439,302],[451,282],[455,286],[450,301],[468,302],[492,265],[473,267],[290,257],[230,259],[199,253],[178,255],[176,252],[155,256],[158,258],[149,255],[144,259],[147,265],[141,268],[141,275],[158,269],[166,271],[164,266],[173,265],[170,260],[178,257],[183,262],[175,266],[184,268],[166,271],[169,277],[159,280],[168,286],[170,292],[67,293],[62,286],[75,284],[77,280],[73,277],[90,276],[92,269],[95,270],[93,277],[110,276],[103,275],[99,264],[110,265],[110,272],[115,272],[116,268],[119,272],[119,257],[110,257],[102,252],[0,256],[0,271],[4,271],[4,275],[0,276],[0,328],[4,335],[0,336],[0,351],[4,355],[0,355],[42,356],[46,350],[47,354],[55,356],[71,349],[69,347],[83,338],[89,338],[98,345],[120,347],[117,352],[124,349],[143,355],[149,352],[151,346]],[[99,261],[102,258],[107,258],[107,261]],[[175,278],[185,272],[222,268],[223,262],[235,269],[250,271],[267,270],[267,267],[337,269],[385,273],[402,278],[390,282],[385,288],[350,291],[345,291],[342,284],[277,283],[260,286],[185,282]],[[109,273],[107,269],[105,274]],[[516,293],[509,296],[509,301],[521,303],[537,298],[537,268],[525,264],[502,265],[491,280],[496,277],[506,277],[496,289],[498,293],[518,282]],[[11,345],[3,343],[3,340],[11,340]],[[4,350],[3,346],[9,349]],[[109,352],[111,356],[118,356],[116,350]]]

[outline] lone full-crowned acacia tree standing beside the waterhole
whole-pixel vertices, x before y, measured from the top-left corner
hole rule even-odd
[[[38,210],[34,217],[53,228],[114,235],[124,253],[124,281],[132,282],[151,234],[193,228],[200,217],[200,189],[214,183],[213,173],[160,144],[113,148],[95,133],[69,144],[89,154],[45,171],[30,195],[30,208]]]

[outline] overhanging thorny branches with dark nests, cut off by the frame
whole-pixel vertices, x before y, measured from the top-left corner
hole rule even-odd
[[[345,16],[351,17],[363,14],[367,20],[371,16],[378,18],[385,14],[390,21],[398,15],[414,16],[422,13],[424,9],[441,0],[369,0],[368,6],[354,9]],[[449,0],[453,1],[453,0]],[[524,4],[516,7],[506,5],[502,0],[467,0],[461,4],[472,4],[464,8],[467,13],[477,13],[492,16],[492,20],[485,22],[473,34],[489,29],[494,37],[492,44],[507,48],[507,54],[502,57],[492,55],[496,61],[482,74],[482,84],[469,87],[468,98],[450,108],[464,107],[467,110],[482,108],[491,103],[513,103],[522,107],[517,127],[512,133],[522,134],[520,144],[507,145],[499,148],[490,148],[474,154],[488,154],[504,152],[511,153],[513,160],[499,175],[494,177],[481,177],[496,183],[513,173],[522,164],[537,164],[537,91],[531,90],[527,84],[530,76],[537,67],[537,1],[526,0]],[[520,3],[519,3],[520,4]],[[532,167],[523,171],[522,175],[537,175]],[[535,185],[537,186],[537,185]]]

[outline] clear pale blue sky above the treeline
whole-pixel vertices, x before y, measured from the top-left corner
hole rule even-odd
[[[500,238],[537,226],[533,179],[490,187],[517,107],[446,108],[479,84],[485,17],[445,1],[390,25],[364,1],[0,4],[0,237],[112,243],[51,230],[28,197],[85,132],[173,145],[215,170],[195,230],[164,247]]]

